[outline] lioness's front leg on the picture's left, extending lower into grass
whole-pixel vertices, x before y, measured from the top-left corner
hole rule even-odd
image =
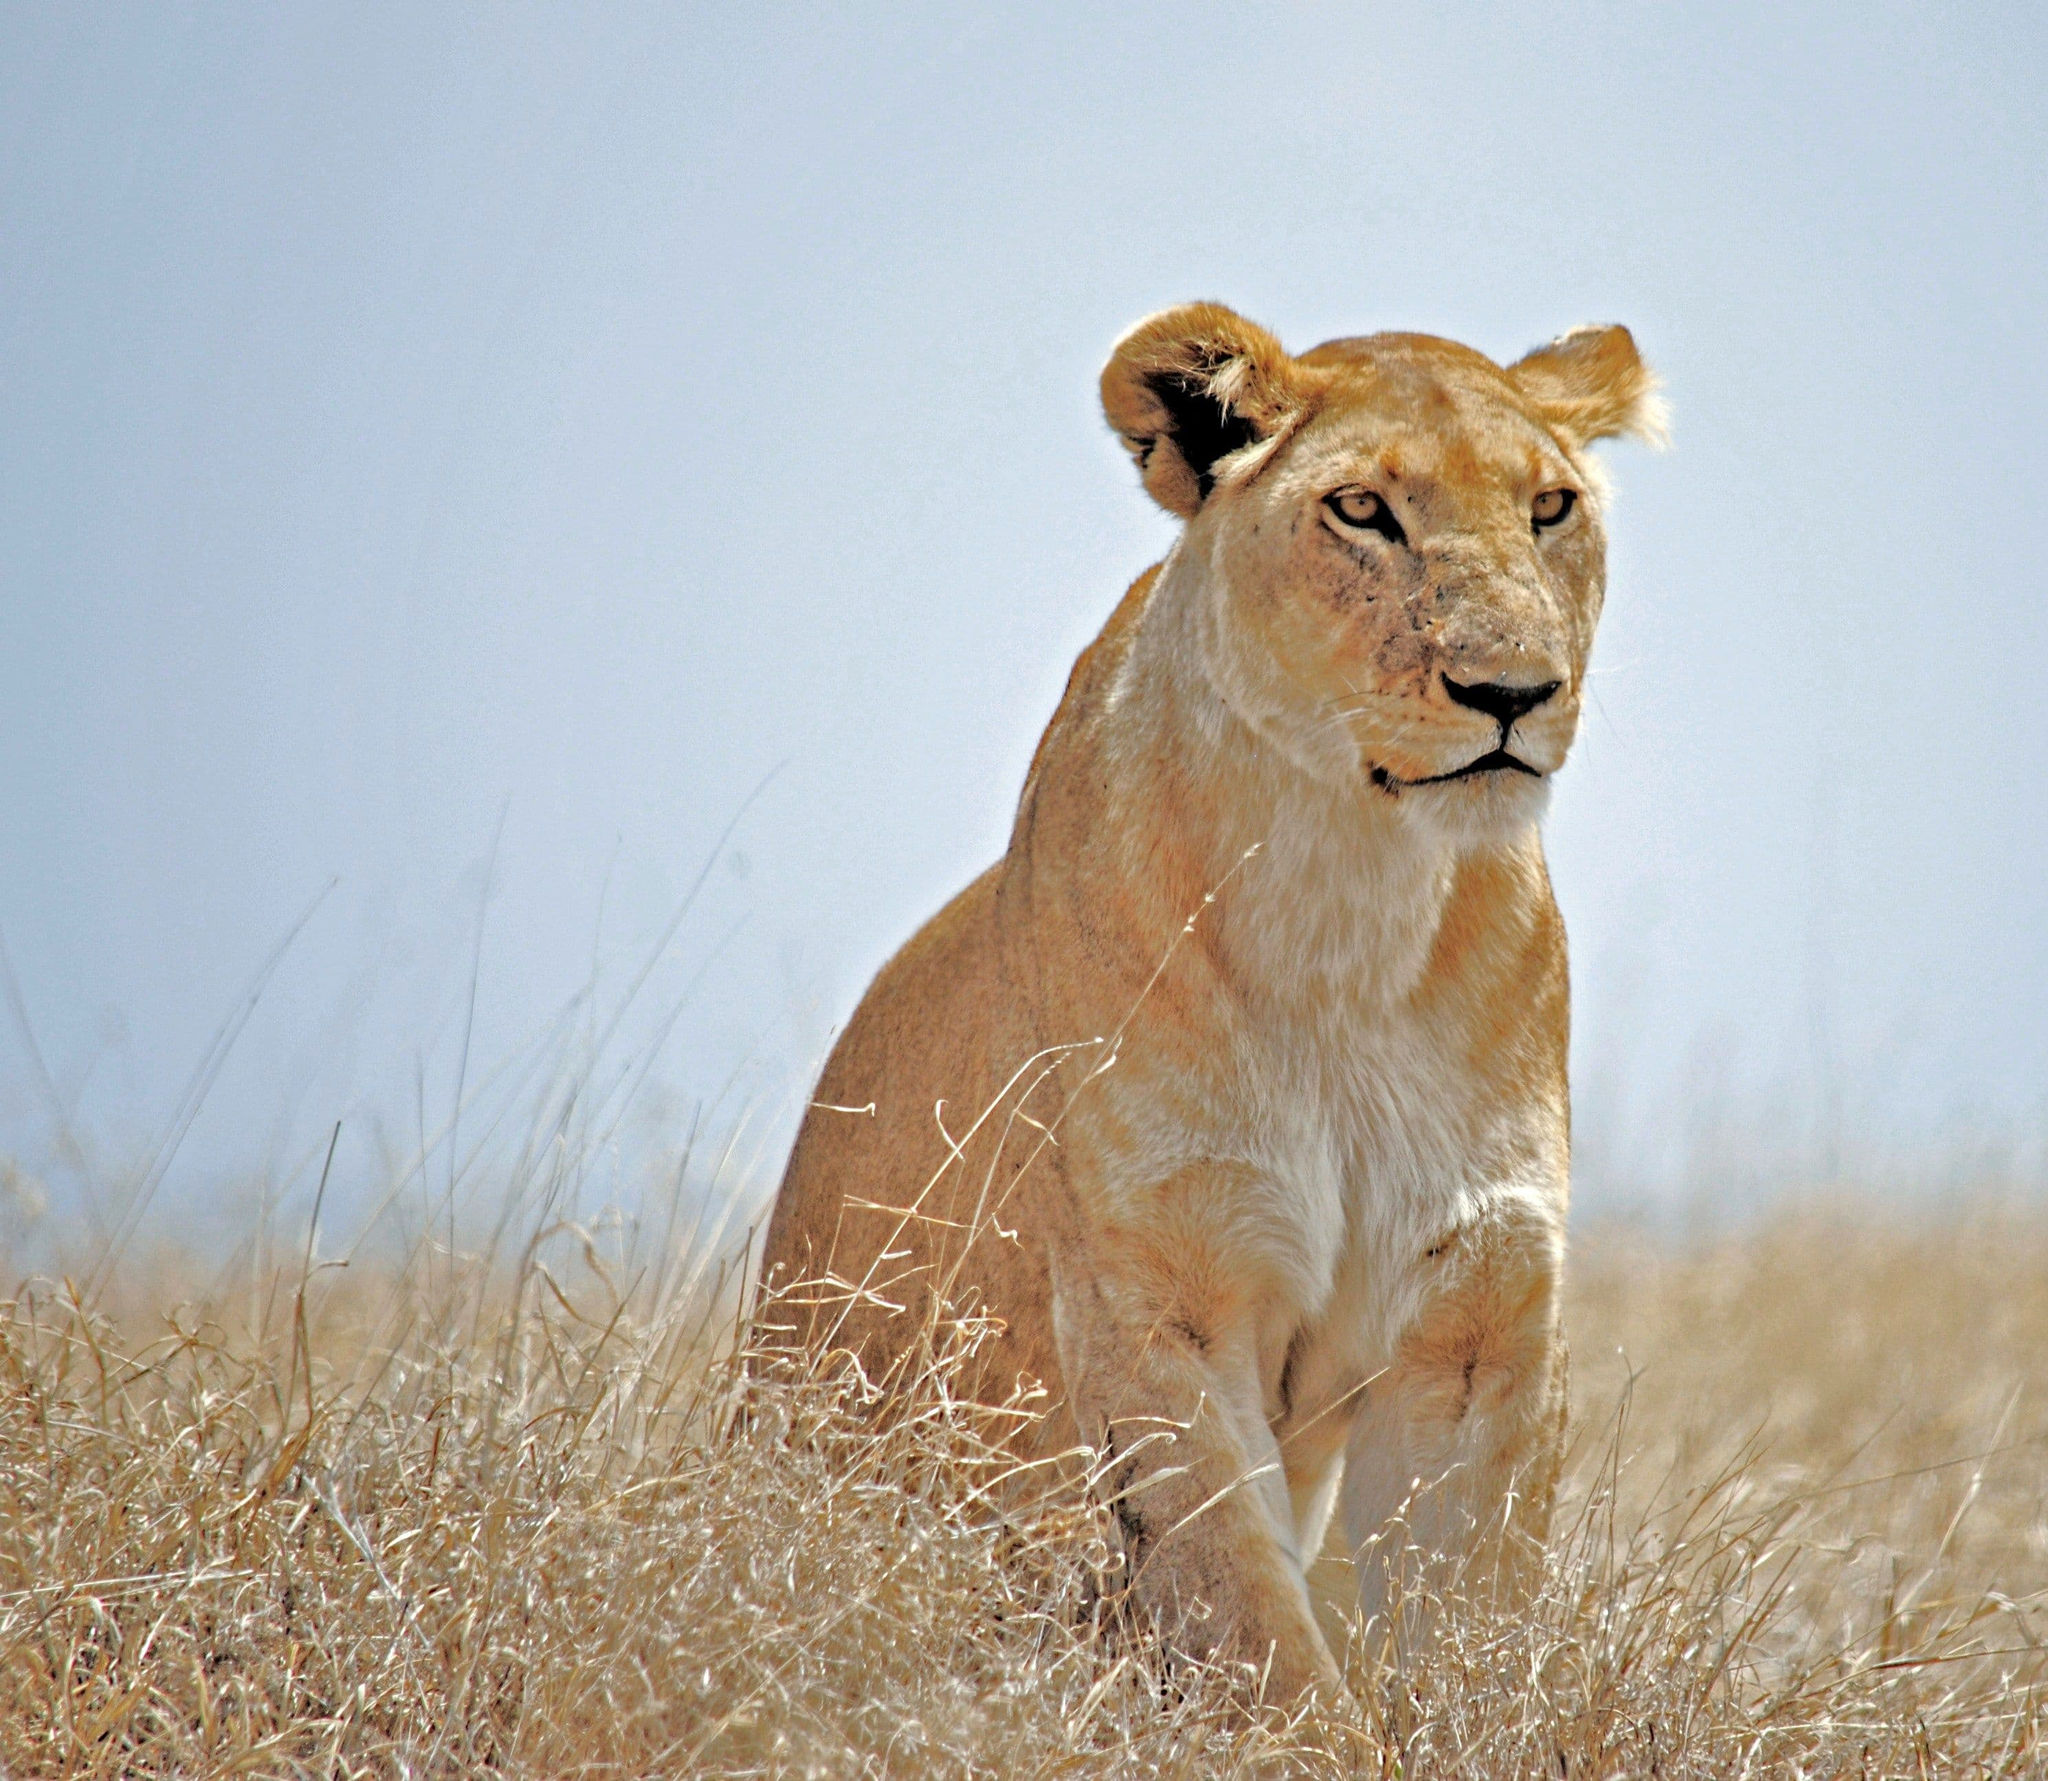
[[[1196,1257],[1180,1263],[1055,1269],[1061,1367],[1104,1458],[1133,1597],[1176,1648],[1260,1673],[1268,1699],[1335,1697],[1249,1312]]]

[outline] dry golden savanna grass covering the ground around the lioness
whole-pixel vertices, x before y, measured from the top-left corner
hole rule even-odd
[[[944,1365],[735,1417],[715,1282],[508,1251],[0,1308],[0,1771],[2048,1771],[2038,1210],[1583,1234],[1540,1601],[1350,1636],[1294,1722],[1118,1619],[1098,1509],[989,1492]]]

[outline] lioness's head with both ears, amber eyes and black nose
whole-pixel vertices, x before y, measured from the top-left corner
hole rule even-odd
[[[1196,303],[1118,342],[1102,403],[1188,522],[1167,573],[1239,716],[1423,821],[1540,813],[1606,585],[1587,446],[1659,428],[1626,328],[1509,366],[1423,334],[1296,358]]]

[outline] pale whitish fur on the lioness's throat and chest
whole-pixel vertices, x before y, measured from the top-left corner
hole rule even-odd
[[[1163,1097],[1171,1116],[1120,1122],[1137,1142],[1112,1191],[1137,1212],[1198,1177],[1200,1206],[1176,1218],[1266,1282],[1262,1327],[1282,1347],[1309,1322],[1341,1329],[1370,1367],[1446,1234],[1511,1206],[1561,1228],[1565,1136],[1561,1107],[1475,1085],[1466,1038],[1415,995],[1456,856],[1346,815],[1300,780],[1274,788],[1255,858],[1204,911],[1241,997]]]

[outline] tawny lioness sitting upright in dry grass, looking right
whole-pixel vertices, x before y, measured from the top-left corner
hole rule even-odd
[[[1389,1517],[1526,1550],[1565,1406],[1565,927],[1538,819],[1657,428],[1624,328],[1499,366],[1290,356],[1210,303],[1126,334],[1110,426],[1186,526],[1081,653],[1004,858],[825,1065],[764,1279],[901,1359],[999,1320],[1024,1437],[1108,1466],[1133,1591],[1270,1695],[1337,1689],[1303,1566]],[[1380,1539],[1393,1552],[1399,1539]],[[1395,1560],[1366,1556],[1370,1613]],[[1511,1566],[1509,1566],[1511,1572]]]

